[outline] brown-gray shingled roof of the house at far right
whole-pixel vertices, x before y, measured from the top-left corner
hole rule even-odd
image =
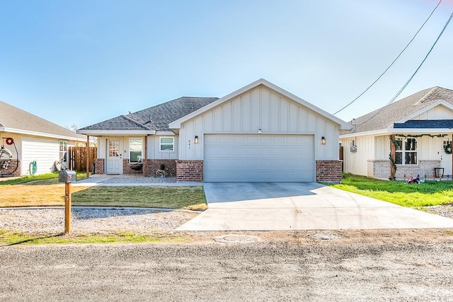
[[[355,133],[392,128],[398,120],[422,110],[437,100],[445,100],[445,102],[453,105],[453,91],[435,86],[392,103],[375,117],[373,115],[382,108],[369,112],[355,119],[357,124]],[[369,120],[370,118],[371,120]],[[350,123],[352,124],[352,122]],[[350,134],[353,133],[353,130],[352,128],[350,131],[341,131],[340,134]]]

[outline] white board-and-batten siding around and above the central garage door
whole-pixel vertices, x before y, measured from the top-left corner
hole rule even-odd
[[[314,135],[314,158],[338,159],[338,125],[265,86],[183,122],[179,158],[203,159],[204,134],[257,134],[258,129],[263,134]],[[321,137],[326,137],[326,145],[321,145]]]

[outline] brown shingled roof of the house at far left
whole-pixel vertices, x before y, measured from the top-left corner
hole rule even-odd
[[[76,134],[57,124],[0,101],[0,131],[85,141],[84,135]]]

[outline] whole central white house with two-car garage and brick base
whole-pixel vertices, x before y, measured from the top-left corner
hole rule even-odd
[[[178,181],[341,180],[342,120],[260,79],[223,98],[171,100],[79,129],[98,137],[96,173]]]

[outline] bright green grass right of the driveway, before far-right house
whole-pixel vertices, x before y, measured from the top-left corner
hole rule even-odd
[[[427,180],[408,185],[404,181],[376,180],[365,176],[343,174],[340,190],[399,204],[403,207],[426,207],[453,202],[453,181]]]

